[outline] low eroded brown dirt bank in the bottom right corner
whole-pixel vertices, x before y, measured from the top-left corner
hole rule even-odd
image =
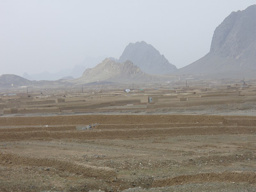
[[[221,172],[200,173],[196,175],[180,175],[174,178],[155,180],[152,187],[165,187],[190,183],[205,182],[249,182],[256,183],[255,172]]]

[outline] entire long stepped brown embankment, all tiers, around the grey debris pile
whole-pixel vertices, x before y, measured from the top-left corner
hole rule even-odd
[[[202,115],[84,115],[2,117],[0,140],[125,139],[180,135],[255,133],[256,119]],[[97,122],[94,130],[75,125]],[[47,127],[43,126],[47,124]],[[15,126],[24,125],[24,127]],[[8,127],[9,126],[9,127]],[[29,127],[30,126],[30,127]]]

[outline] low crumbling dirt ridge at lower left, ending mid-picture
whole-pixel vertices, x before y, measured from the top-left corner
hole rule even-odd
[[[76,164],[71,161],[61,161],[58,159],[36,158],[30,156],[20,156],[9,153],[0,153],[1,164],[23,164],[30,166],[52,167],[60,171],[68,171],[107,181],[116,181],[116,171],[109,167],[96,167],[88,164]]]

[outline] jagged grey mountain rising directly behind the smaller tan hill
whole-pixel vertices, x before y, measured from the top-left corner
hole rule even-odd
[[[118,62],[122,63],[126,60],[138,66],[143,72],[147,74],[164,75],[177,70],[175,65],[161,55],[151,44],[145,41],[129,43]]]

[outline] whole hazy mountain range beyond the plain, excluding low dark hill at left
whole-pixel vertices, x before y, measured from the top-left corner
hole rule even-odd
[[[103,60],[102,58],[86,57],[83,63],[76,65],[73,69],[61,70],[54,74],[43,72],[28,75],[24,73],[23,77],[29,80],[79,77],[77,80],[68,81],[80,83],[98,80],[158,81],[159,75],[164,74],[197,77],[202,75],[204,78],[255,77],[256,5],[251,5],[243,11],[232,12],[226,17],[214,31],[210,52],[186,67],[177,69],[164,55],[144,41],[128,44],[119,59],[103,58],[105,59]],[[156,74],[158,77],[155,76]]]

